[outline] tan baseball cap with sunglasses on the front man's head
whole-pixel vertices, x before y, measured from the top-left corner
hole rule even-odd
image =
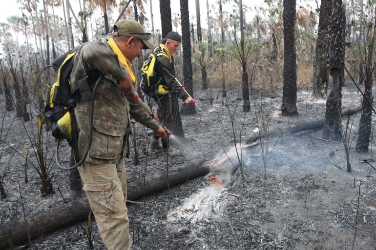
[[[115,23],[112,35],[114,37],[125,36],[138,38],[143,41],[144,49],[155,49],[157,47],[149,41],[151,33],[146,32],[139,22],[132,19],[120,20]]]

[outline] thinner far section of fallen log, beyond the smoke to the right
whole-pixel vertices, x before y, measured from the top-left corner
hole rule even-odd
[[[355,113],[359,112],[361,110],[361,106],[351,106],[348,108],[344,108],[341,111],[341,117],[348,116],[348,115],[354,115]],[[313,130],[313,129],[320,129],[324,126],[324,119],[320,120],[315,120],[315,121],[307,121],[307,122],[302,122],[299,124],[292,124],[292,125],[287,125],[284,127],[280,128],[272,128],[269,131],[270,137],[277,137],[279,135],[286,135],[286,134],[293,134],[293,133],[298,133],[301,131],[306,131],[306,130]],[[251,135],[249,137],[246,137],[243,142],[246,144],[251,144],[252,142],[255,142],[261,138],[266,137],[267,132],[262,132],[260,135],[258,133]]]

